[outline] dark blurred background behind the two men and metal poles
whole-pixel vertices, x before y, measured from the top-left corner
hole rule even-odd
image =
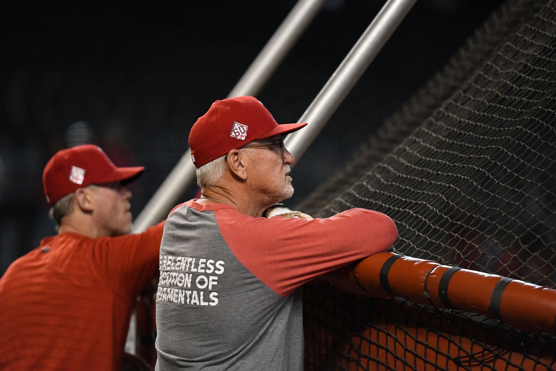
[[[287,204],[334,174],[500,3],[418,1],[299,160]],[[92,142],[116,165],[146,166],[132,185],[137,215],[186,151],[193,122],[226,97],[294,4],[4,5],[0,272],[55,233],[41,175],[56,151]],[[297,121],[383,4],[326,3],[257,94],[279,123]]]

